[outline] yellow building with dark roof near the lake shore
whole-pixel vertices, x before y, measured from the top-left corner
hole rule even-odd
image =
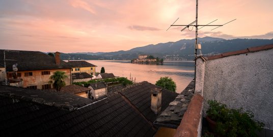
[[[86,61],[68,61],[72,65],[71,73],[86,72],[90,75],[96,74],[96,65],[88,63]]]

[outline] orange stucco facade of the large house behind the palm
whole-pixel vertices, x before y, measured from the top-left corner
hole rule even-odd
[[[42,71],[50,71],[50,75],[42,75]],[[28,86],[37,86],[37,89],[42,89],[42,85],[48,84],[49,77],[53,75],[53,72],[56,71],[64,71],[68,76],[65,78],[65,84],[66,86],[71,85],[70,69],[18,71],[17,73],[21,73],[21,77],[23,79],[23,88]],[[32,72],[33,76],[24,76],[24,72]],[[53,88],[52,85],[51,88]]]

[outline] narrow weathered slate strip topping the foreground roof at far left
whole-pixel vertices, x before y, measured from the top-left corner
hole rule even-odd
[[[50,106],[57,106],[69,111],[92,102],[90,99],[72,94],[42,90],[30,90],[10,86],[0,86],[0,96],[10,97],[15,100],[25,100]]]

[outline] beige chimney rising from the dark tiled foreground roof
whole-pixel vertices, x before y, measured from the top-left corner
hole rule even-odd
[[[155,114],[161,111],[161,90],[160,88],[151,89],[151,109]]]

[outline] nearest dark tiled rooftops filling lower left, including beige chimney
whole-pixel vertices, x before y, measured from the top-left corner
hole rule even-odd
[[[0,136],[154,136],[177,95],[147,81],[101,100],[0,86]]]

